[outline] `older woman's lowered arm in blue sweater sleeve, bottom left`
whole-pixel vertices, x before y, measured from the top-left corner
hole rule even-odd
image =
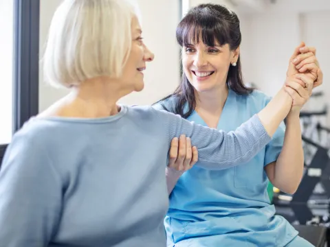
[[[43,146],[26,135],[15,134],[1,167],[1,246],[48,246],[60,217],[60,178]]]

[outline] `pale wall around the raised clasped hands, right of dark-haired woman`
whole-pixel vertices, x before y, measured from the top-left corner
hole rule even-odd
[[[294,0],[293,0],[294,1]],[[321,8],[321,0],[318,8]],[[286,2],[287,3],[287,2]],[[330,1],[327,2],[330,6]],[[314,91],[324,91],[322,99],[311,98],[304,110],[322,110],[330,106],[330,8],[296,8],[279,0],[274,8],[266,12],[242,14],[241,32],[243,36],[241,59],[245,82],[254,82],[261,91],[273,96],[285,81],[289,57],[294,48],[305,41],[317,49],[317,57],[324,73],[323,85]],[[283,11],[281,11],[283,10]],[[330,125],[330,115],[327,125]]]

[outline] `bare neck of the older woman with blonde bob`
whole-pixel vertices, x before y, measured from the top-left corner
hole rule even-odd
[[[82,82],[68,95],[69,112],[80,117],[109,117],[116,115],[120,97],[126,95],[119,87],[120,82],[109,78],[93,78]]]

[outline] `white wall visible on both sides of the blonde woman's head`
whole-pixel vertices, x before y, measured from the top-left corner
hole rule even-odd
[[[144,90],[124,97],[121,102],[152,104],[157,99],[173,92],[179,83],[179,47],[175,41],[175,27],[179,22],[179,3],[177,0],[137,0],[137,2],[142,12],[144,40],[155,53],[155,60],[147,65],[144,73]],[[52,15],[60,3],[61,0],[41,0],[41,54],[43,54]],[[66,93],[66,90],[53,89],[45,84],[40,70],[39,111],[44,110]]]

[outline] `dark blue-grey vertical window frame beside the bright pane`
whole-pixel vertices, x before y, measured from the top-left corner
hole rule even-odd
[[[40,0],[14,0],[13,134],[39,112],[39,20]]]

